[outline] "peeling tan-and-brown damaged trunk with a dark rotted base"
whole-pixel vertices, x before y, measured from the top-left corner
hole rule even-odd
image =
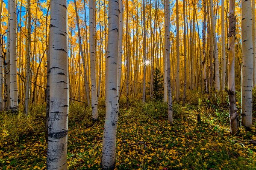
[[[228,62],[228,88],[230,102],[230,130],[235,134],[239,127],[238,109],[236,108],[235,101],[235,0],[230,0],[230,13],[229,13],[229,62]]]

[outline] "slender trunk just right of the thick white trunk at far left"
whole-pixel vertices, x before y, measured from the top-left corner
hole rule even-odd
[[[31,13],[30,0],[27,0],[27,41],[26,41],[26,92],[25,92],[25,115],[29,112],[29,92],[31,79],[31,65],[30,65],[30,43],[31,43]]]

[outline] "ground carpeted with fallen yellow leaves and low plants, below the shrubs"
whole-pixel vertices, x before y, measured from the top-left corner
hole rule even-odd
[[[197,123],[198,109],[195,106],[174,106],[174,123],[170,125],[166,116],[159,113],[162,111],[158,111],[166,109],[166,105],[141,105],[121,110],[116,169],[256,170],[256,145],[246,142],[256,139],[255,123],[250,132],[241,128],[236,136],[232,136],[228,122],[207,116],[207,111],[201,111],[202,122]],[[145,109],[154,109],[154,112],[147,113]],[[78,122],[70,125],[69,169],[100,169],[103,126],[103,117],[94,124]],[[13,144],[0,146],[0,169],[46,169],[44,133],[32,134]]]

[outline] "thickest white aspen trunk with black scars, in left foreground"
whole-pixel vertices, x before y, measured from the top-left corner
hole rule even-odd
[[[51,0],[50,8],[50,112],[47,169],[67,170],[69,104],[67,2]]]

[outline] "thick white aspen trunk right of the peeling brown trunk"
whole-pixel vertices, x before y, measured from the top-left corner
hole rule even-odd
[[[252,40],[252,8],[250,0],[242,0],[242,53],[243,53],[243,79],[242,79],[242,125],[252,126],[253,107],[253,40]]]

